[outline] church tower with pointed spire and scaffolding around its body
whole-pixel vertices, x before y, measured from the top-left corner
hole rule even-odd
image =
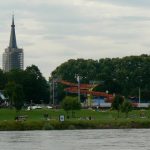
[[[14,16],[12,17],[10,42],[8,48],[3,53],[3,70],[8,72],[13,69],[24,68],[23,49],[17,47]]]

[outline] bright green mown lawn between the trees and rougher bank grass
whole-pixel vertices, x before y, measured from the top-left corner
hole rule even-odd
[[[116,120],[117,118],[117,112],[111,111],[111,110],[105,110],[105,111],[96,111],[96,110],[89,110],[89,109],[82,109],[79,111],[75,111],[75,117],[72,118],[72,113],[69,112],[67,114],[62,109],[36,109],[36,110],[21,110],[20,112],[16,112],[15,109],[0,109],[0,121],[11,121],[14,120],[15,116],[27,116],[27,120],[29,121],[40,121],[44,120],[44,114],[48,114],[48,118],[50,120],[58,120],[59,115],[65,115],[65,118],[67,119],[67,116],[69,115],[69,120],[87,120],[89,117],[92,120],[101,120],[101,121],[111,121]],[[147,120],[150,118],[150,110],[133,110],[129,113],[129,117],[125,118],[124,113],[120,113],[119,119],[126,120],[126,119],[132,119],[132,120]]]

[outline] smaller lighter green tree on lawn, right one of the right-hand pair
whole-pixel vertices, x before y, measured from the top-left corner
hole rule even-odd
[[[133,107],[132,107],[132,103],[125,100],[121,106],[121,111],[124,112],[126,114],[126,118],[128,117],[128,113],[130,111],[132,111]]]

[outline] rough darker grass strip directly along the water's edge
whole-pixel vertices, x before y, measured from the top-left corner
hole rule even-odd
[[[1,121],[0,131],[150,128],[150,120]]]

